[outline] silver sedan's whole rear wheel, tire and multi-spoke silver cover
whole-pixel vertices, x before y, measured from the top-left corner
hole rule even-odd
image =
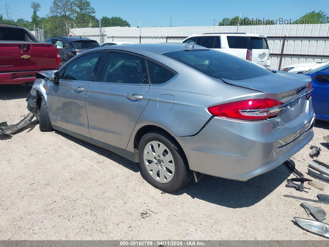
[[[145,134],[138,147],[140,168],[154,187],[173,192],[190,182],[190,171],[184,152],[166,133]]]

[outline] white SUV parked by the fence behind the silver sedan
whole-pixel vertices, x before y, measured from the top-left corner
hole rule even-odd
[[[192,35],[183,43],[194,42],[199,46],[220,50],[269,67],[269,49],[266,36],[251,33],[204,33]]]

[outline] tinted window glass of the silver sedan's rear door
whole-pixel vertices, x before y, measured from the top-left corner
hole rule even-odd
[[[110,52],[99,80],[114,83],[148,83],[145,60],[126,53]]]

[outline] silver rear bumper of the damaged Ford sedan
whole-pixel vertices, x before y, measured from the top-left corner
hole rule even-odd
[[[273,121],[241,122],[214,117],[196,136],[180,137],[190,169],[246,181],[273,170],[314,136],[314,113],[305,114],[294,132]],[[274,118],[275,119],[275,118]]]

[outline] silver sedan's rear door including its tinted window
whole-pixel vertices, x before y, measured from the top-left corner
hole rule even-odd
[[[125,149],[149,101],[145,59],[111,50],[104,61],[86,95],[89,132],[93,139]]]

